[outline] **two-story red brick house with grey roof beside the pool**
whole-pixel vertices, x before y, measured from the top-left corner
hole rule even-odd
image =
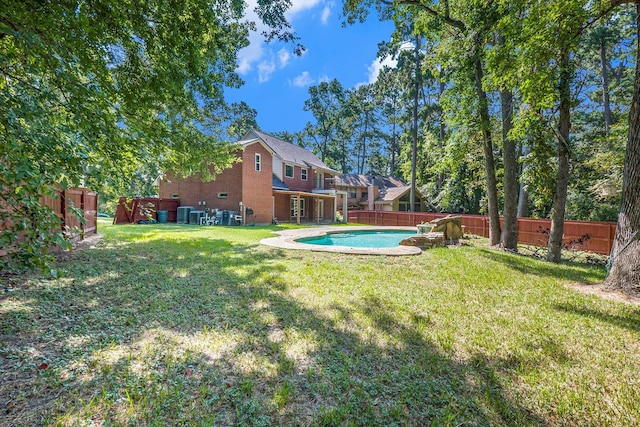
[[[326,182],[336,172],[311,151],[255,129],[236,144],[240,161],[215,180],[168,172],[159,184],[160,197],[179,198],[182,206],[238,211],[244,224],[270,224],[273,218],[335,221],[337,192]]]

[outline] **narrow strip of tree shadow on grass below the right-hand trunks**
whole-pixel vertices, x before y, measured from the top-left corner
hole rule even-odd
[[[523,274],[566,279],[580,283],[594,283],[594,280],[597,282],[604,280],[603,267],[579,264],[575,262],[554,264],[529,258],[524,255],[487,248],[479,248],[478,252],[491,261],[498,262],[507,268]]]

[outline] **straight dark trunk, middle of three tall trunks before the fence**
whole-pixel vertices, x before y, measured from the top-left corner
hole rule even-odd
[[[509,137],[513,128],[513,93],[500,91],[502,107],[502,144],[504,156],[504,223],[501,243],[505,249],[518,250],[518,159],[516,143]]]

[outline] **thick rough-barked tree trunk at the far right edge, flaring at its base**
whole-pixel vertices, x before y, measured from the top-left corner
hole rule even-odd
[[[636,5],[640,14],[640,4]],[[640,16],[640,15],[639,15]],[[640,33],[640,28],[637,28]],[[639,34],[640,35],[640,34]],[[640,38],[636,38],[640,48]],[[636,51],[636,79],[629,113],[629,136],[624,159],[622,203],[611,248],[608,289],[640,295],[640,50]]]

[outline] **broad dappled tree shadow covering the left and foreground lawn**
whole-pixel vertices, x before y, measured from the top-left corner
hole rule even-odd
[[[208,237],[74,254],[0,312],[0,423],[544,424],[505,361],[456,360],[377,298],[301,299],[284,256]]]

